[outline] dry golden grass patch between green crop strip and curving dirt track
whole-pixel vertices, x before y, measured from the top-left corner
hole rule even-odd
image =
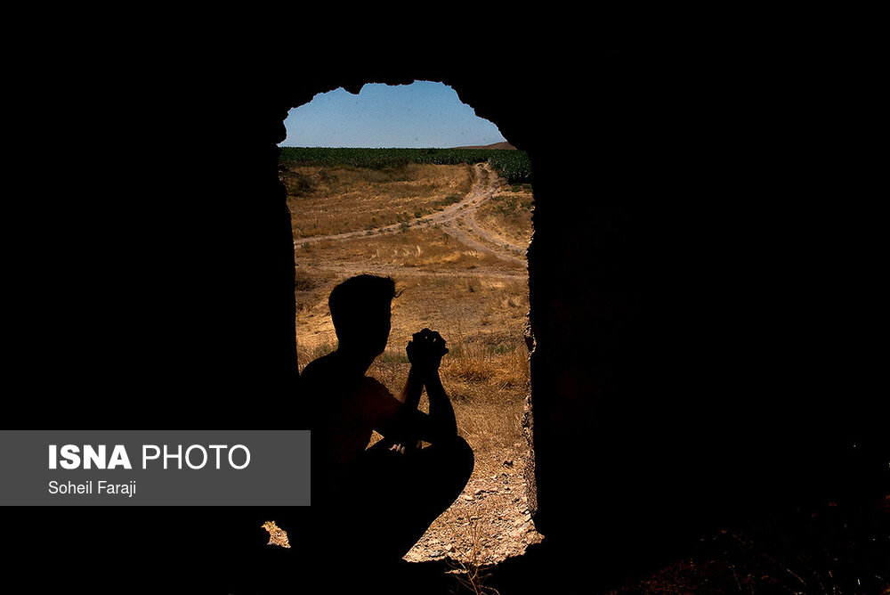
[[[463,198],[473,172],[468,165],[293,167],[280,177],[299,239],[411,222]]]

